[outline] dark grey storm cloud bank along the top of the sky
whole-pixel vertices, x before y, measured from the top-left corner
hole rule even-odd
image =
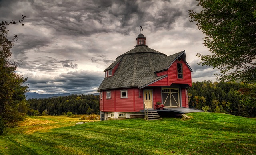
[[[184,11],[184,9],[189,9],[188,4],[190,3],[186,7],[179,8],[172,1],[157,2],[159,2],[157,7],[155,0],[75,2],[30,0],[17,1],[19,5],[16,5],[24,8],[31,7],[31,12],[26,10],[27,18],[24,23],[30,22],[32,25],[54,29],[56,35],[89,36],[100,32],[117,32],[128,35],[131,31],[137,31],[138,25],[145,26],[151,31],[168,30],[173,29],[173,24],[178,17],[185,15],[187,17],[187,10]],[[4,1],[1,5],[2,8],[5,8],[2,16],[9,16],[8,19],[14,17],[13,13],[8,13],[15,9],[15,3]]]

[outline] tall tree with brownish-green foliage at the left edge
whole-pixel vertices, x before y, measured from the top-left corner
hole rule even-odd
[[[25,16],[22,15],[19,22],[2,21],[0,23],[0,116],[5,122],[14,122],[20,118],[19,104],[24,104],[24,94],[28,92],[28,86],[22,85],[27,78],[16,73],[18,64],[10,60],[13,42],[18,41],[18,37],[14,35],[12,41],[8,40],[6,28],[6,25],[10,24],[24,25],[22,23],[24,18]]]

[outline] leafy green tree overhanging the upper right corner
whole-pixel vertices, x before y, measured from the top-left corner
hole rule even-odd
[[[218,80],[256,82],[256,1],[197,0],[199,13],[189,10],[190,22],[206,35],[211,55],[197,54],[201,65],[220,70]]]

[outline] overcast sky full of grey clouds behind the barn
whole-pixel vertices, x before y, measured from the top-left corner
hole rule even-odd
[[[22,60],[17,72],[28,77],[30,92],[95,93],[104,70],[133,49],[139,25],[148,47],[166,55],[185,50],[194,72],[192,81],[215,80],[212,67],[202,67],[196,53],[210,54],[202,31],[188,10],[196,0],[0,0],[0,21],[18,35],[12,59]]]

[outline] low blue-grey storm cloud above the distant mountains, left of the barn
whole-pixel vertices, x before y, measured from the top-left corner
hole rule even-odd
[[[25,84],[29,84],[30,89],[44,89],[50,93],[56,93],[59,89],[73,94],[86,94],[88,92],[95,92],[104,79],[104,76],[99,72],[93,71],[75,71],[68,73],[61,73],[56,77],[37,77],[30,76]],[[31,86],[32,85],[32,86]]]

